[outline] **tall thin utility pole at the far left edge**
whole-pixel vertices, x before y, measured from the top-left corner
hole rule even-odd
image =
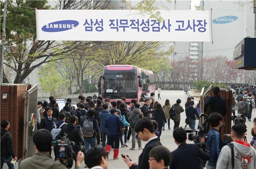
[[[4,52],[5,52],[5,23],[6,23],[6,11],[7,11],[7,0],[5,0],[5,7],[4,7],[4,20],[3,20],[3,32],[2,32],[2,51],[1,51],[1,80],[0,83],[3,84],[3,75],[4,75]]]

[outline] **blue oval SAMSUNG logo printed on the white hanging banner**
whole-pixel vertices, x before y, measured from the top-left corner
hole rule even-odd
[[[60,21],[56,21],[56,22],[52,22],[44,25],[42,27],[42,31],[46,31],[46,32],[67,31],[75,28],[77,25],[79,25],[79,22],[75,20],[60,20]]]

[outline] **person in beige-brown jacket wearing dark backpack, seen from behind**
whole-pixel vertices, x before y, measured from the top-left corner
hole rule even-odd
[[[135,108],[130,112],[129,115],[129,122],[130,122],[130,127],[131,127],[131,131],[132,131],[132,147],[130,148],[130,150],[135,150],[135,137],[136,137],[136,132],[135,132],[135,125],[136,123],[139,121],[139,119],[143,118],[143,113],[141,112],[140,109],[140,104],[136,103]],[[142,149],[141,147],[141,139],[138,138],[138,146],[139,146],[139,150]]]

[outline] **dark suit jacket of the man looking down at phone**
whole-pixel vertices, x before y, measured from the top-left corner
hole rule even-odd
[[[139,162],[138,165],[132,165],[130,169],[149,169],[149,151],[153,149],[157,145],[162,145],[161,142],[159,141],[159,138],[155,138],[153,140],[150,140],[142,150],[141,155],[139,156]]]

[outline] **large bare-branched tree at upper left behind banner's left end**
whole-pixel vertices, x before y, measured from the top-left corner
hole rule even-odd
[[[111,1],[101,0],[93,3],[94,9],[106,9]],[[3,2],[0,2],[3,8]],[[21,7],[24,6],[24,7]],[[88,9],[91,0],[59,0],[57,9]],[[44,63],[62,59],[67,53],[82,48],[81,42],[37,41],[35,10],[49,9],[47,0],[10,0],[7,6],[7,48],[5,50],[5,67],[12,69],[16,76],[13,83],[22,83],[37,67]],[[1,10],[1,21],[3,20]],[[18,22],[17,22],[18,21]],[[87,42],[91,44],[91,42]],[[58,57],[56,57],[58,56]],[[61,56],[63,56],[61,58]],[[4,82],[10,82],[10,77],[4,72]]]

